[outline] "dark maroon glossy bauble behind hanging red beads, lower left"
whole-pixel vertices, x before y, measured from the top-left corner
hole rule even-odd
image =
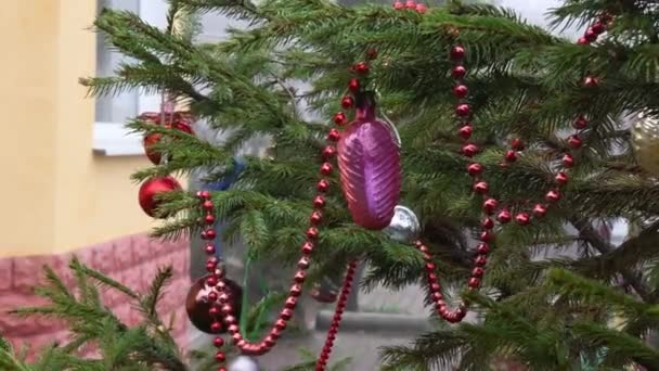
[[[208,276],[199,278],[188,291],[188,297],[185,299],[185,311],[188,311],[188,318],[195,328],[205,333],[218,333],[211,331],[214,322],[222,322],[222,319],[218,315],[217,318],[212,318],[210,315],[210,308],[214,307],[214,303],[208,299],[211,287],[206,285]],[[232,315],[240,321],[241,318],[241,304],[243,300],[243,289],[232,280],[224,279],[224,293],[229,296],[228,304],[233,308]],[[227,327],[222,325],[219,333],[225,333]]]

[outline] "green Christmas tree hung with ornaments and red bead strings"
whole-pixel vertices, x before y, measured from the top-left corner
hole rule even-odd
[[[249,27],[198,44],[194,20],[204,12]],[[93,94],[165,92],[195,119],[231,132],[222,145],[209,143],[185,126],[157,125],[166,112],[129,124],[157,154],[156,166],[134,175],[148,186],[142,206],[166,219],[155,238],[210,241],[205,225],[225,220],[224,238],[240,236],[250,260],[299,267],[280,319],[251,344],[238,331],[249,322],[241,322],[240,305],[228,305],[234,297],[221,261],[209,258],[206,283],[218,285],[222,303],[211,325],[245,354],[276,351],[301,289],[343,277],[348,265],[338,325],[363,264],[362,286],[421,282],[432,316],[456,323],[477,315],[384,349],[385,369],[479,370],[501,357],[532,370],[659,369],[650,342],[659,324],[659,7],[570,0],[551,18],[583,36],[564,39],[511,10],[460,1],[170,0],[167,29],[103,11],[95,26],[134,62],[82,84]],[[232,189],[191,194],[166,178],[203,167],[211,169],[207,181],[222,180],[254,138],[268,138],[268,154],[245,157]],[[418,217],[418,241],[408,239],[413,222],[385,228],[405,212],[397,204]],[[606,233],[615,220],[630,226],[620,244]],[[93,317],[70,308],[54,312]],[[80,343],[57,351],[105,333],[140,340],[122,358],[135,369],[184,368],[169,341],[153,341],[157,322],[124,329],[104,316],[76,322]],[[331,363],[336,331],[311,368]],[[231,348],[222,343],[220,363]]]

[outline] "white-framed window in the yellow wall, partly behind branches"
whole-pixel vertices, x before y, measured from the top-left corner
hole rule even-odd
[[[147,23],[165,27],[167,14],[166,0],[98,0],[102,9],[127,10],[140,14]],[[107,48],[105,36],[96,35],[96,76],[112,76],[126,57]],[[93,130],[93,150],[105,156],[143,155],[142,138],[129,133],[124,127],[127,118],[141,112],[159,111],[159,95],[141,94],[128,91],[114,97],[96,98],[96,113]]]

